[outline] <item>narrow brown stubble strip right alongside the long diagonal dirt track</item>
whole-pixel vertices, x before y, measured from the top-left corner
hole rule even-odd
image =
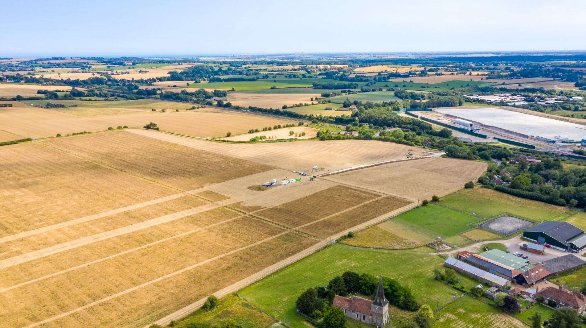
[[[304,226],[300,231],[321,238],[327,238],[328,236],[345,231],[348,228],[352,228],[353,226],[359,225],[369,219],[380,217],[381,215],[392,212],[395,209],[404,207],[408,204],[411,204],[411,202],[407,199],[382,197],[360,205],[359,207],[336,214],[333,217]]]

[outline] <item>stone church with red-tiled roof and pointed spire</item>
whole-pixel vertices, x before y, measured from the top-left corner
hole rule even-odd
[[[336,295],[333,299],[333,306],[339,307],[350,319],[384,327],[389,319],[389,301],[384,297],[383,275],[379,278],[379,287],[376,290],[374,300],[354,296],[352,298]],[[389,326],[393,326],[390,323]]]

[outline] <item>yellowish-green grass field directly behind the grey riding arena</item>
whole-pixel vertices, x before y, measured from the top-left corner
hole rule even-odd
[[[440,204],[467,213],[474,212],[478,217],[483,218],[507,212],[536,221],[561,216],[570,211],[567,207],[519,198],[486,188],[464,189],[454,192],[443,197]]]

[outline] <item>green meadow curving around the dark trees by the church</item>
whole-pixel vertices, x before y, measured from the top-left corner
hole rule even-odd
[[[442,268],[444,260],[428,253],[363,249],[335,244],[287,268],[240,290],[239,295],[253,302],[263,311],[294,328],[307,328],[295,312],[295,300],[305,289],[327,285],[336,275],[347,270],[388,276],[410,286],[415,299],[435,308],[452,299],[455,289],[435,280],[432,270]],[[458,275],[466,289],[476,285],[472,279]],[[395,317],[404,317],[404,311],[391,306]],[[410,314],[408,312],[407,314]]]

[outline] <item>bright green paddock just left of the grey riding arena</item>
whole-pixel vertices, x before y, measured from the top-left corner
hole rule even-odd
[[[468,224],[478,221],[478,218],[453,209],[429,204],[397,215],[394,220],[421,226],[427,231],[447,238],[471,229]]]

